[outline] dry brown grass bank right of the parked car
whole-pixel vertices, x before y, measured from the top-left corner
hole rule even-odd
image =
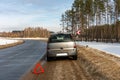
[[[78,49],[86,72],[95,80],[120,80],[120,58],[89,47]]]

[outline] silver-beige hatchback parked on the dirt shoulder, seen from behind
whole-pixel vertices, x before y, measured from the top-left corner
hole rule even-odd
[[[53,34],[48,39],[47,61],[57,57],[72,57],[77,60],[77,46],[71,34]]]

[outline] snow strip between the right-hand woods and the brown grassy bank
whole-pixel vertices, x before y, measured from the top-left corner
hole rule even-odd
[[[120,43],[103,43],[103,42],[85,42],[77,41],[77,44],[89,47],[116,55],[120,57]]]

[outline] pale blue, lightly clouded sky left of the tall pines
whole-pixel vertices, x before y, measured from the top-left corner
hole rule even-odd
[[[60,31],[61,14],[74,0],[0,0],[0,32],[43,27]]]

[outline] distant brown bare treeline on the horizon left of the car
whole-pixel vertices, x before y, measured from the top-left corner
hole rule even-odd
[[[49,37],[49,35],[49,31],[41,27],[28,27],[25,28],[23,31],[14,30],[12,32],[0,33],[0,37]]]

